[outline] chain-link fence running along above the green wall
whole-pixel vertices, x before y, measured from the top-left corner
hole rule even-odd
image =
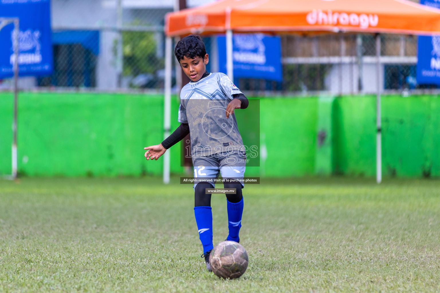
[[[52,8],[53,72],[50,76],[23,77],[21,88],[163,90],[164,17],[172,7],[121,7],[117,0],[102,1],[103,6],[83,21],[77,17],[80,10],[59,2],[54,1]],[[260,95],[376,92],[374,35],[281,35],[280,39],[283,81],[239,78],[234,81],[238,87]],[[210,56],[208,70],[218,71],[216,36],[203,40]],[[385,91],[436,88],[417,83],[417,36],[382,35],[381,63]],[[175,58],[173,69],[176,92],[184,77]],[[11,80],[0,81],[0,88],[11,86]]]

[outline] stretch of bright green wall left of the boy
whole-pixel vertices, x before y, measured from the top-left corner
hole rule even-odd
[[[0,94],[1,174],[11,174],[11,121],[12,95]],[[160,174],[162,164],[144,160],[143,147],[162,141],[162,125],[160,95],[20,93],[18,169],[31,176]],[[181,172],[178,149],[171,156],[171,170]]]

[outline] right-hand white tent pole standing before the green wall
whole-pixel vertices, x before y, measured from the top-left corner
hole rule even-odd
[[[381,35],[376,35],[376,76],[377,76],[377,95],[376,95],[376,181],[382,181],[382,141],[381,141]]]

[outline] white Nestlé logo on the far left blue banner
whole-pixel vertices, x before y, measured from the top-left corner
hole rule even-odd
[[[11,32],[12,52],[14,52],[16,36],[14,31]],[[20,31],[18,34],[18,64],[37,64],[43,58],[41,57],[41,43],[40,31],[32,31],[31,29],[25,32]],[[23,52],[23,53],[22,53]],[[15,54],[12,53],[9,57],[9,62],[14,64]]]

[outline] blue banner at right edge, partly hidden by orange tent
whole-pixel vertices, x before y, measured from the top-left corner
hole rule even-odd
[[[421,0],[424,4],[440,8],[436,0]],[[418,36],[417,83],[440,85],[440,36]]]

